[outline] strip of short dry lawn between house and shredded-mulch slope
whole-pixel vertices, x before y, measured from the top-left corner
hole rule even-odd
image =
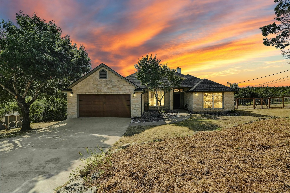
[[[113,146],[133,142],[146,142],[153,139],[171,139],[192,135],[195,131],[213,131],[233,127],[249,121],[258,120],[259,117],[281,116],[287,114],[289,109],[252,109],[237,110],[242,116],[217,116],[208,114],[192,114],[187,120],[168,124],[153,126],[129,126],[124,136]]]

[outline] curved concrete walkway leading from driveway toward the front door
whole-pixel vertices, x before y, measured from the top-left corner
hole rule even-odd
[[[168,119],[164,121],[152,121],[152,122],[142,122],[142,123],[130,123],[130,126],[145,126],[145,125],[164,125],[168,123],[174,123],[178,121],[183,121],[185,119],[189,119],[190,114],[186,110],[178,110],[180,115],[173,119]]]

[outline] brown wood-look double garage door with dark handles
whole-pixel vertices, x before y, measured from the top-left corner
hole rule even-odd
[[[131,117],[130,94],[80,94],[79,117]]]

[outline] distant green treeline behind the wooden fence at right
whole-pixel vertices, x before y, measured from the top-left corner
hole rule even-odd
[[[234,88],[235,85],[231,87]],[[246,88],[235,87],[234,89],[239,90],[239,92],[235,94],[235,98],[268,98],[290,96],[290,86]]]

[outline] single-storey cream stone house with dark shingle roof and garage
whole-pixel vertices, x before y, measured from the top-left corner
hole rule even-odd
[[[193,112],[234,110],[235,90],[219,83],[199,79],[189,74],[180,87],[167,93],[162,100],[164,108],[187,108]],[[100,64],[61,92],[67,92],[68,118],[77,117],[140,117],[144,104],[157,109],[153,92],[136,77],[136,73],[123,77],[105,64]]]

